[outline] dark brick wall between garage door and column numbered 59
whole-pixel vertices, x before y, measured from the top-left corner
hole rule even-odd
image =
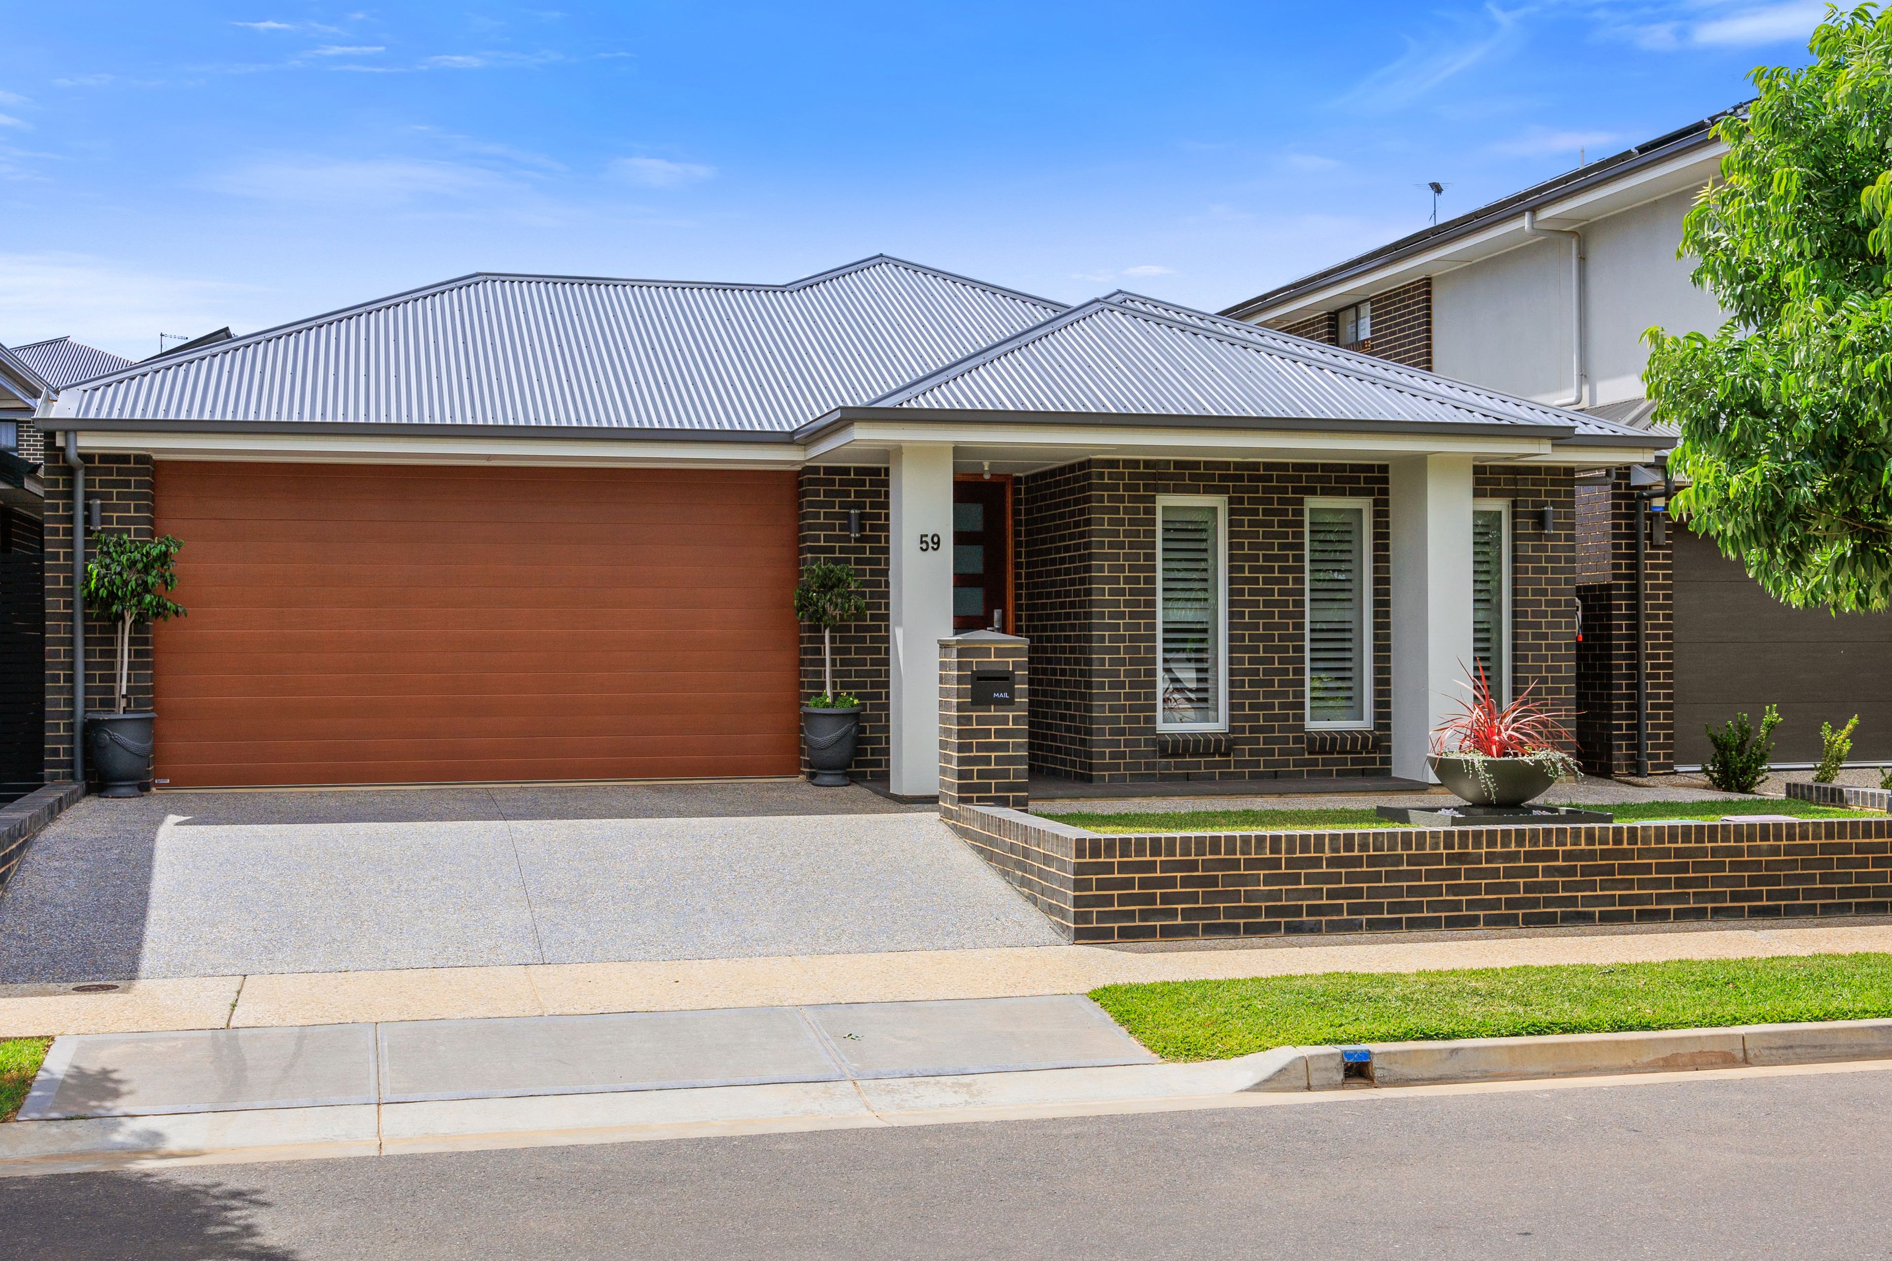
[[[861,537],[848,533],[848,510],[861,510]],[[887,773],[887,471],[812,465],[800,473],[800,563],[853,565],[867,616],[834,630],[834,688],[861,698],[855,775]],[[821,690],[821,631],[802,628],[802,694]],[[804,766],[806,769],[806,766]]]

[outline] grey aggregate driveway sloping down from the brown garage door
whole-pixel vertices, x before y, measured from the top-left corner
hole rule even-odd
[[[1056,943],[933,811],[780,781],[87,798],[0,898],[0,983]]]

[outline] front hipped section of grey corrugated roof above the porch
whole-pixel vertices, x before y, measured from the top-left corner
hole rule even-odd
[[[1648,440],[1582,412],[1133,293],[1071,308],[872,406],[1497,425]]]

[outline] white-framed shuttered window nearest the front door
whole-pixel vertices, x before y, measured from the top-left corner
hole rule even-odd
[[[1222,730],[1222,505],[1158,499],[1156,518],[1156,726]]]

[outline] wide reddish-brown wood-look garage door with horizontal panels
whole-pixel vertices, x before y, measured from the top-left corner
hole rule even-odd
[[[795,475],[161,461],[157,779],[793,775]]]

